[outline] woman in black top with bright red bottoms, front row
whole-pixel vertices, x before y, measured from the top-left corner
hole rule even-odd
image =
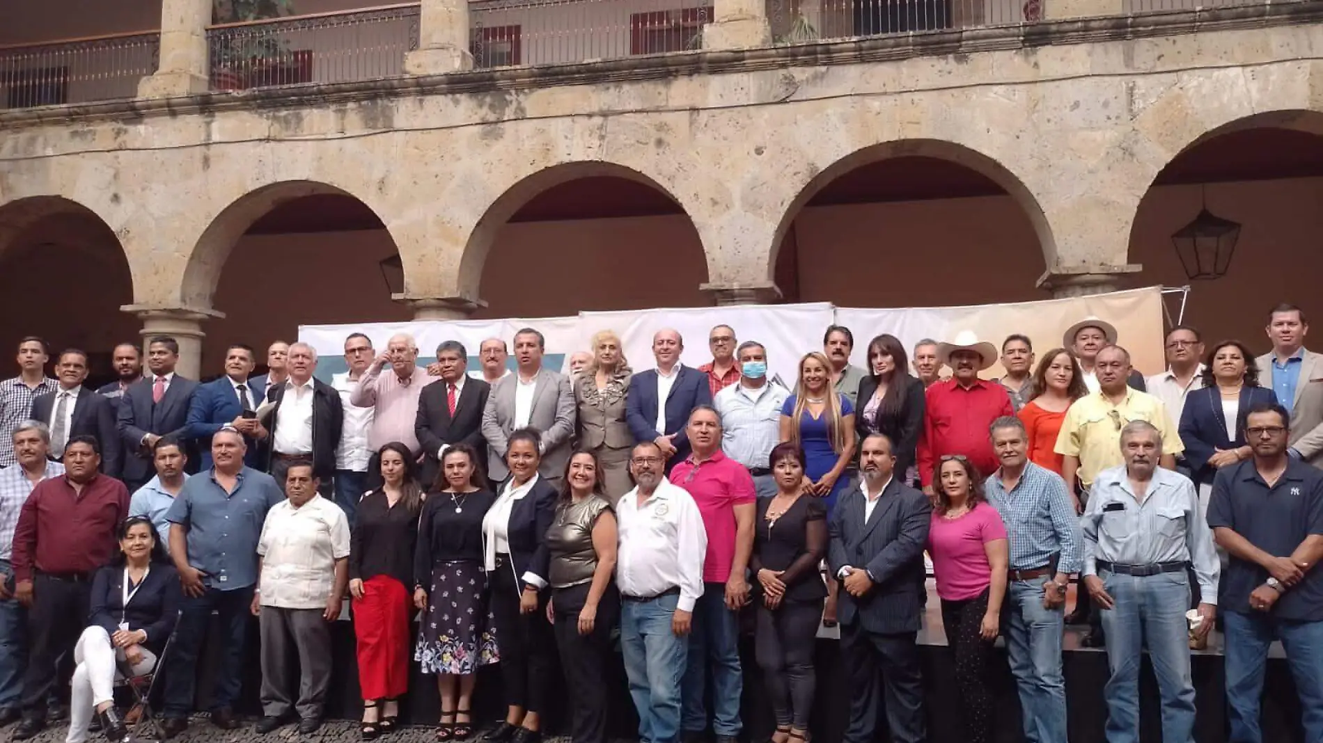
[[[409,612],[422,489],[409,447],[392,442],[381,455],[381,488],[359,502],[349,537],[349,594],[359,639],[364,740],[394,730],[409,690]]]

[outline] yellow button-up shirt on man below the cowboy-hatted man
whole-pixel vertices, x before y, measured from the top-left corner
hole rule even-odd
[[[1080,459],[1080,483],[1088,488],[1103,469],[1125,464],[1121,430],[1132,420],[1147,420],[1162,432],[1163,453],[1185,451],[1162,401],[1134,387],[1126,387],[1126,399],[1121,405],[1111,405],[1101,391],[1077,399],[1066,410],[1054,450]]]

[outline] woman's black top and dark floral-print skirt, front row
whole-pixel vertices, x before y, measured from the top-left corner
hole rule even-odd
[[[418,524],[414,580],[427,591],[414,660],[429,674],[470,674],[499,660],[483,572],[487,490],[427,496]]]

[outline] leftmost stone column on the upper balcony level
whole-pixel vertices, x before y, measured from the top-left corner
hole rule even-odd
[[[163,0],[160,65],[138,85],[139,98],[173,98],[210,87],[206,26],[212,0]]]

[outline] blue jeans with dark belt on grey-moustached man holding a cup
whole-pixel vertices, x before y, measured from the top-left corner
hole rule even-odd
[[[1185,571],[1136,578],[1099,571],[1115,604],[1094,607],[1107,633],[1111,678],[1107,699],[1107,742],[1139,743],[1139,661],[1148,648],[1162,699],[1163,743],[1192,743],[1195,685],[1189,677],[1189,579]]]

